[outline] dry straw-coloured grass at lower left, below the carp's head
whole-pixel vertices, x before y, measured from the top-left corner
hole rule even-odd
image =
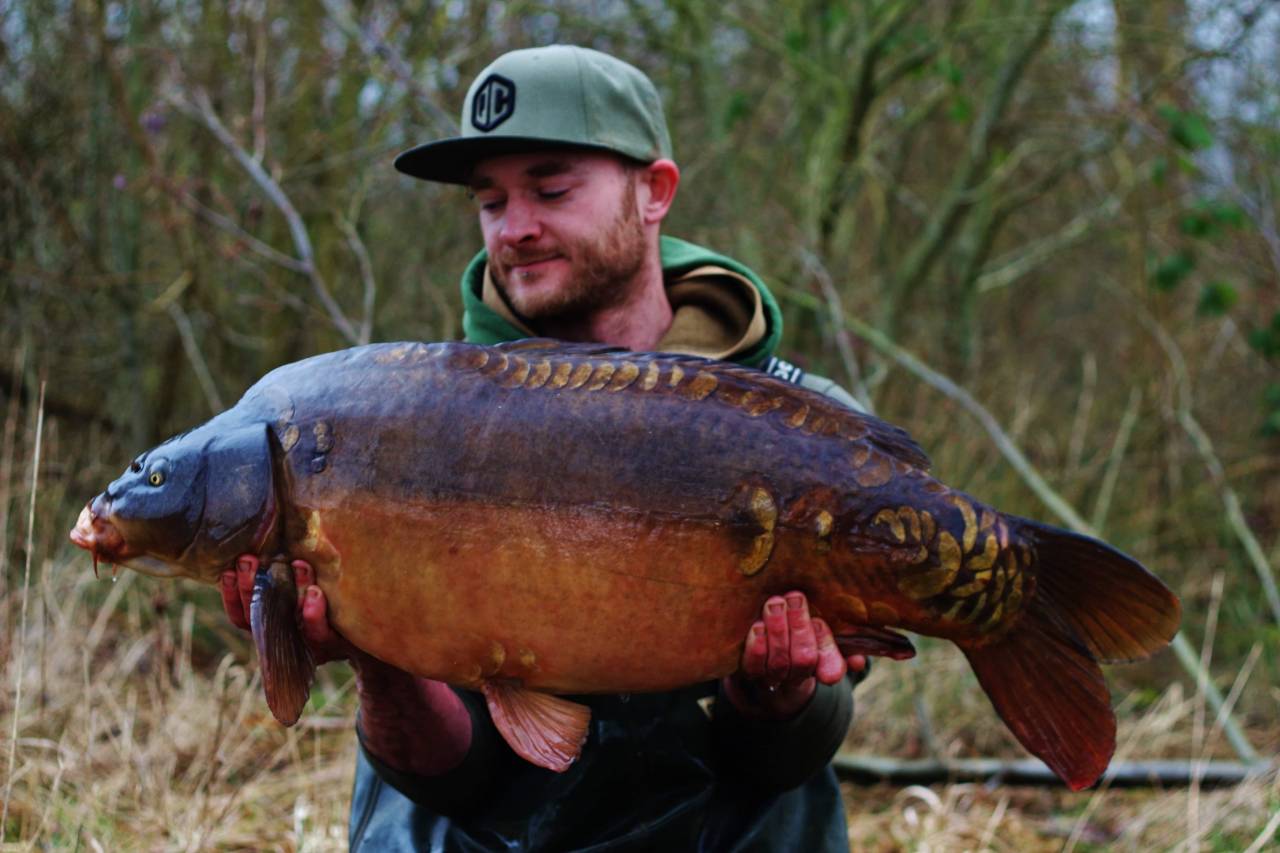
[[[76,558],[32,590],[5,849],[344,849],[352,708],[332,679],[283,729],[242,643],[209,656],[212,599],[170,612],[157,581],[105,584]]]

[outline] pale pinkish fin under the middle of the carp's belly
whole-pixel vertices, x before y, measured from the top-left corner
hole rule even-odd
[[[484,698],[493,724],[521,758],[558,774],[577,761],[591,722],[590,708],[500,681],[486,681]]]

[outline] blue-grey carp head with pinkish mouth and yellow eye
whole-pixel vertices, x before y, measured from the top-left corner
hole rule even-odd
[[[275,521],[270,428],[198,430],[134,459],[81,510],[73,543],[100,561],[215,583]]]

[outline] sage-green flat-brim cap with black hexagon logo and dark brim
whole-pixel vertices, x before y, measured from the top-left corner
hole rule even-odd
[[[462,134],[404,151],[396,168],[424,181],[466,183],[483,158],[564,146],[653,163],[671,156],[658,90],[644,72],[589,47],[550,45],[503,54],[471,83]]]

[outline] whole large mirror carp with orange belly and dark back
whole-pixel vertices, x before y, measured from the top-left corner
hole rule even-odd
[[[134,460],[72,539],[95,561],[216,583],[306,560],[333,625],[483,689],[521,754],[577,756],[557,693],[727,675],[764,599],[800,589],[842,651],[955,642],[1014,735],[1069,785],[1115,748],[1098,661],[1149,656],[1179,602],[1108,546],[927,474],[905,432],[763,373],[525,341],[388,343],[279,368]],[[273,712],[312,667],[287,564],[251,621]]]

